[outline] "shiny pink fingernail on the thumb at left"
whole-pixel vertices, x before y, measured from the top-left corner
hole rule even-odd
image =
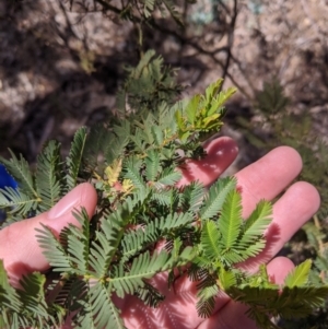
[[[81,200],[84,196],[83,188],[77,187],[65,196],[57,204],[55,204],[49,211],[49,220],[56,220],[63,214],[71,212],[74,208],[81,204]]]

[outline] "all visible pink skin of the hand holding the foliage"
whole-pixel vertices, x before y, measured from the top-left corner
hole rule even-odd
[[[207,145],[207,152],[204,160],[190,161],[187,167],[181,169],[184,178],[179,185],[186,185],[191,180],[210,185],[234,161],[237,146],[229,138],[219,138]],[[293,263],[283,257],[274,259],[272,257],[319,208],[319,196],[312,185],[301,181],[290,186],[301,169],[300,155],[291,148],[280,146],[236,174],[245,218],[260,199],[272,200],[284,191],[273,204],[273,222],[267,231],[266,250],[256,259],[243,265],[247,270],[256,271],[259,262],[268,262],[269,274],[277,283],[283,282],[285,275],[293,269]],[[77,224],[71,211],[82,205],[90,215],[93,214],[96,193],[89,184],[78,186],[49,212],[0,231],[0,259],[3,259],[13,284],[16,284],[22,274],[48,268],[35,239],[35,227],[44,223],[58,234],[68,223]],[[199,318],[195,309],[195,283],[185,277],[180,278],[175,289],[171,291],[166,289],[165,274],[156,275],[153,282],[167,294],[160,308],[145,307],[133,296],[117,301],[127,328],[237,329],[241,328],[241,324],[243,328],[256,328],[244,315],[245,307],[225,295],[218,296],[215,312],[210,318]]]

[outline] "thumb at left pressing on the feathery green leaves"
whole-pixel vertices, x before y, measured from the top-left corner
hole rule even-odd
[[[89,216],[92,216],[96,202],[95,189],[84,183],[71,190],[49,211],[1,230],[0,259],[3,260],[11,282],[15,284],[24,274],[49,268],[35,237],[35,228],[42,228],[40,223],[51,228],[55,234],[59,234],[69,223],[79,225],[72,211],[79,211],[84,207]]]

